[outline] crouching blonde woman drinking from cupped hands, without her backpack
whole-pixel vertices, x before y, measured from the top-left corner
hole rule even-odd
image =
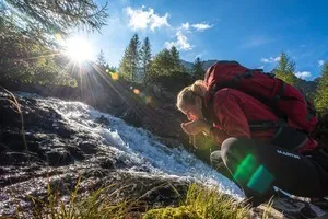
[[[269,200],[273,186],[302,197],[328,196],[328,153],[314,139],[244,92],[224,88],[208,96],[203,81],[180,91],[177,107],[189,120],[181,128],[221,146],[212,161],[222,159],[254,206]]]

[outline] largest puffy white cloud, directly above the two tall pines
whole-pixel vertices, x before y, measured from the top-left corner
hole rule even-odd
[[[169,16],[168,13],[165,13],[164,16],[160,16],[154,13],[154,10],[145,7],[141,7],[141,9],[133,10],[131,7],[126,8],[126,12],[130,18],[129,26],[132,30],[145,30],[150,28],[154,31],[156,27],[161,26],[171,26],[167,22]]]

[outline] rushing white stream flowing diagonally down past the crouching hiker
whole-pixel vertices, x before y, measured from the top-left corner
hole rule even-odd
[[[116,157],[129,164],[129,172],[197,181],[216,186],[235,198],[244,197],[243,192],[234,183],[183,147],[168,148],[156,141],[156,138],[145,129],[132,127],[120,118],[96,111],[81,102],[45,99],[27,93],[19,95],[33,97],[40,107],[55,110],[77,132],[87,132],[103,146],[112,147]],[[97,123],[101,117],[106,118],[108,125]]]

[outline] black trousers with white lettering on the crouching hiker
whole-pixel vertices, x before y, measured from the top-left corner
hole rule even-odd
[[[328,157],[320,154],[301,155],[245,138],[229,138],[221,146],[233,181],[255,206],[273,195],[273,186],[301,197],[328,196]]]

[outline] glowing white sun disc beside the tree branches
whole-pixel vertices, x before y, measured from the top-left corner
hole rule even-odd
[[[91,58],[91,44],[83,38],[71,38],[67,43],[67,54],[74,61],[85,61]]]

